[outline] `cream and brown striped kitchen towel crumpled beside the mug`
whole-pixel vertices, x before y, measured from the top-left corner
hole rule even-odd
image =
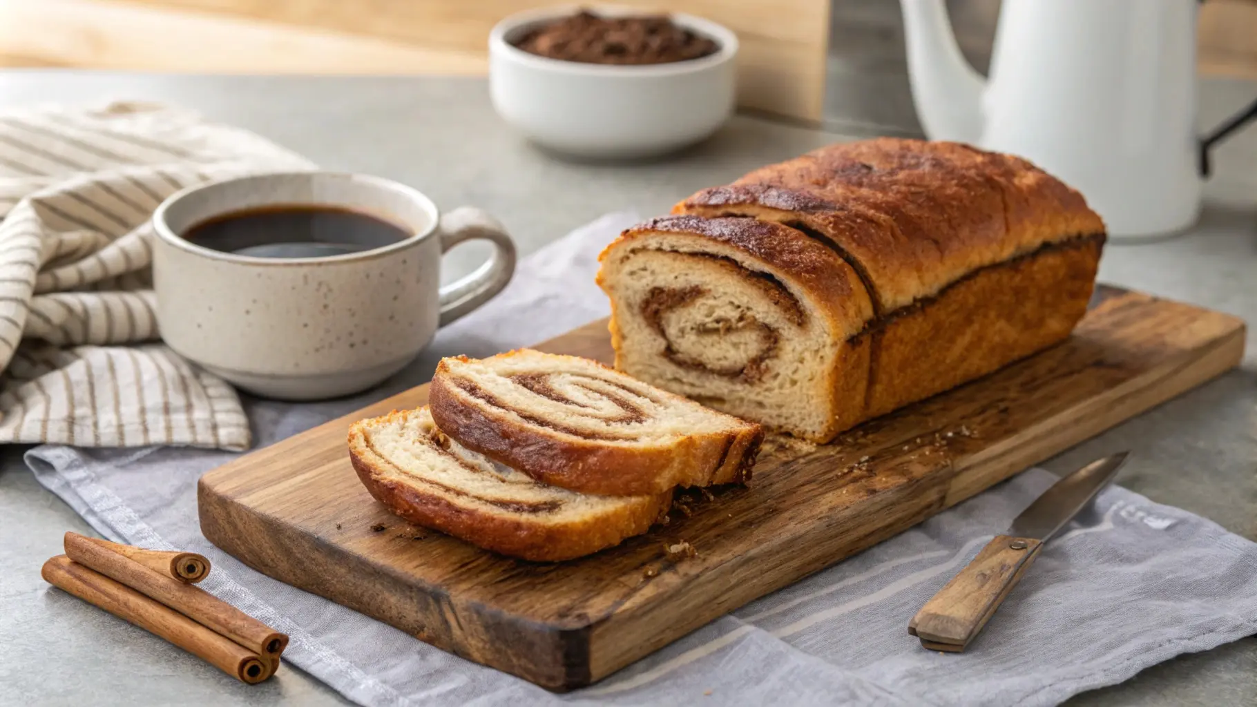
[[[150,216],[191,185],[310,167],[161,105],[0,113],[0,442],[248,448],[235,391],[158,342]]]

